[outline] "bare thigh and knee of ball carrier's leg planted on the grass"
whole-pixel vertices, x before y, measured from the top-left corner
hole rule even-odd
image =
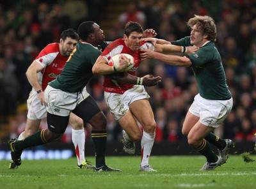
[[[147,99],[136,100],[131,103],[130,110],[138,119],[144,130],[148,133],[154,132],[156,129],[156,121],[154,113]]]

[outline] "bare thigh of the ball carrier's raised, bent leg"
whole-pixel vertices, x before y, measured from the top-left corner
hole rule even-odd
[[[124,116],[118,119],[119,125],[122,127],[123,130],[129,135],[132,140],[140,140],[141,139],[141,129],[134,119],[134,116],[131,113],[131,110],[128,110]]]

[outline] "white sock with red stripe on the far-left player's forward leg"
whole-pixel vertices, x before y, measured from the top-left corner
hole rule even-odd
[[[77,165],[81,165],[81,163],[85,160],[84,158],[84,144],[85,144],[85,133],[84,129],[74,130],[72,128],[72,142],[75,146],[76,157],[77,157]]]

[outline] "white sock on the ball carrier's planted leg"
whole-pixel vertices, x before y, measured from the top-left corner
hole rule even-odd
[[[141,166],[148,165],[148,159],[154,145],[155,136],[156,133],[150,134],[143,130],[143,135],[141,138]]]

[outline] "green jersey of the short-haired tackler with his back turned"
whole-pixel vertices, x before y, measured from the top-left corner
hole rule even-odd
[[[93,77],[92,67],[101,54],[100,50],[107,45],[108,43],[104,42],[95,48],[89,43],[78,42],[76,49],[68,57],[61,74],[49,82],[49,86],[68,93],[82,91]]]

